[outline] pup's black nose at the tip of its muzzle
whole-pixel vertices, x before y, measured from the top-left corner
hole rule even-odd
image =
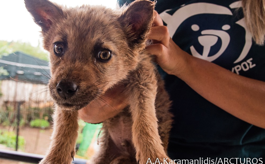
[[[64,99],[72,97],[77,91],[77,85],[72,81],[61,80],[56,86],[57,93]]]

